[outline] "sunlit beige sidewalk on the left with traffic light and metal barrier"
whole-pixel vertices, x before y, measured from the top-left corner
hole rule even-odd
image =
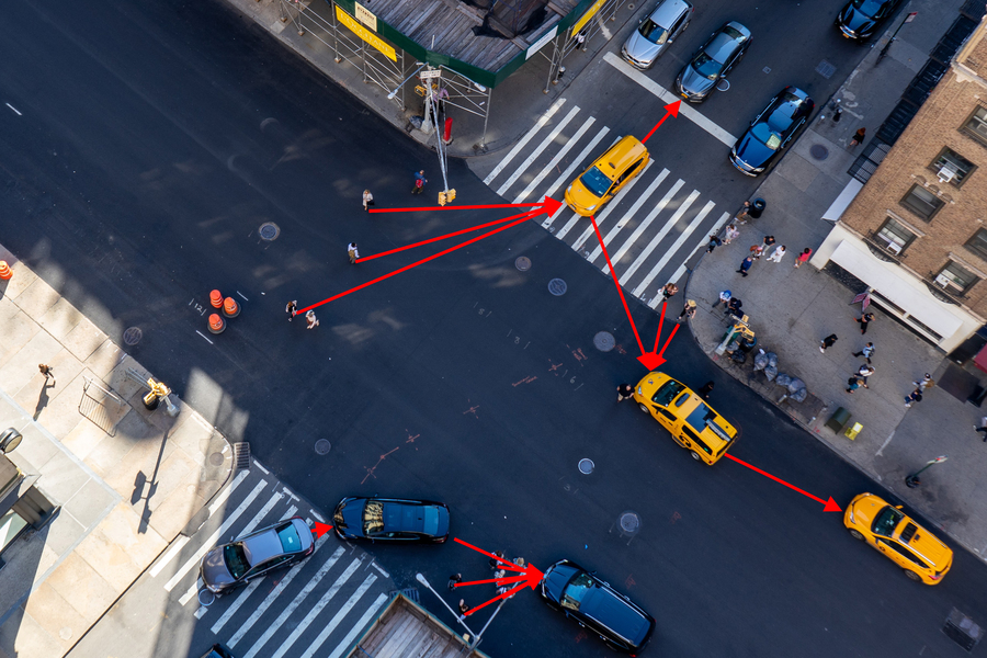
[[[186,525],[197,527],[196,513],[232,470],[232,450],[174,395],[174,418],[163,404],[148,411],[127,371],[150,375],[118,337],[2,247],[0,260],[13,270],[0,281],[0,429],[23,434],[8,456],[39,475],[35,488],[57,506],[2,555],[0,658],[54,658]]]

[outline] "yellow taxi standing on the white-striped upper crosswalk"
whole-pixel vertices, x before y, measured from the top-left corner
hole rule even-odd
[[[566,205],[583,217],[598,213],[647,163],[645,145],[631,135],[622,137],[566,188]]]

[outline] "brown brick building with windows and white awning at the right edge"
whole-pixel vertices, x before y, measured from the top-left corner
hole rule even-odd
[[[812,262],[945,351],[987,322],[987,20]]]

